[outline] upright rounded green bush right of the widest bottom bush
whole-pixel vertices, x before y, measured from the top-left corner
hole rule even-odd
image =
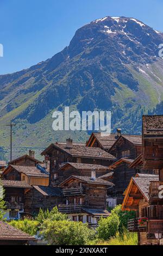
[[[108,218],[101,218],[98,224],[97,235],[99,239],[108,240],[111,236],[116,235],[120,225],[120,220],[118,215],[111,214]]]

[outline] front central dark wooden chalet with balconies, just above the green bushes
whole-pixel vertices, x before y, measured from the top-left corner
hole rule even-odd
[[[92,180],[91,177],[71,176],[60,184],[65,197],[65,204],[62,204],[59,209],[61,212],[67,213],[76,212],[76,209],[82,211],[82,208],[104,210],[106,208],[107,188],[112,185],[111,182],[100,178]],[[80,209],[76,206],[80,206]]]

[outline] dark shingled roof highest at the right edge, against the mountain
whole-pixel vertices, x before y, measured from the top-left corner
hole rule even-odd
[[[143,115],[144,136],[163,136],[163,115]]]

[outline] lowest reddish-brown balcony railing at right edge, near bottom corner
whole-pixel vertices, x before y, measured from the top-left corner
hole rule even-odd
[[[148,234],[162,233],[163,234],[163,220],[149,220]]]

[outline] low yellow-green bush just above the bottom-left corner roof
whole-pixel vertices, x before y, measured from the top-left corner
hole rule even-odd
[[[24,219],[23,221],[11,221],[9,222],[10,225],[13,227],[24,231],[29,235],[36,235],[37,231],[39,231],[39,222],[38,221],[31,221],[28,219]]]

